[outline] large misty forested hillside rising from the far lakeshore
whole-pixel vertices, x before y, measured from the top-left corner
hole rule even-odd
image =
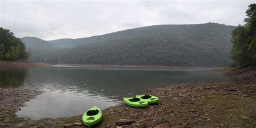
[[[70,64],[227,66],[234,28],[216,23],[146,26],[72,39],[63,43],[80,46],[36,50],[30,60]]]

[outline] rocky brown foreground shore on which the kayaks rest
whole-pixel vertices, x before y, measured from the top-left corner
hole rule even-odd
[[[255,84],[177,84],[147,90],[143,94],[159,97],[160,103],[144,109],[128,107],[125,104],[110,107],[103,110],[103,119],[96,127],[156,127],[159,124],[166,127],[256,126]],[[10,101],[9,104],[15,102]],[[7,122],[4,119],[0,121],[2,126],[85,127],[82,124],[82,115],[39,121],[20,119],[13,113],[10,115],[14,120],[19,119],[18,122]],[[122,122],[116,123],[120,119]]]

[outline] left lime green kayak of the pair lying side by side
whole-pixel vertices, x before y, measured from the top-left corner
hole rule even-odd
[[[146,101],[141,100],[140,98],[133,98],[133,97],[124,97],[124,102],[132,107],[147,107],[148,104]]]

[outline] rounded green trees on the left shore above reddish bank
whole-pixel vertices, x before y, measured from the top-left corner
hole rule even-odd
[[[21,39],[16,38],[10,30],[0,28],[0,59],[26,60],[28,53]]]

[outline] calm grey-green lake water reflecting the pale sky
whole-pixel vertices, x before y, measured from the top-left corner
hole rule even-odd
[[[198,69],[46,67],[0,70],[0,87],[45,91],[16,114],[31,119],[71,117],[96,105],[119,104],[124,96],[175,83],[230,82],[220,72]]]

